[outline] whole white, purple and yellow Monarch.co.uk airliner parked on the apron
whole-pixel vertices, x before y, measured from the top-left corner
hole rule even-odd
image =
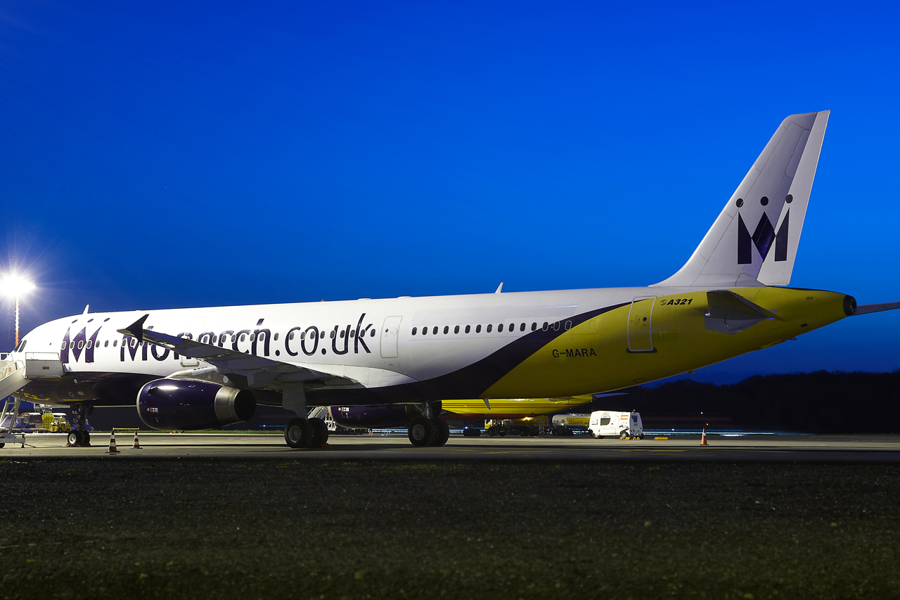
[[[788,287],[828,115],[785,119],[688,262],[652,286],[85,311],[24,337],[0,397],[70,405],[82,424],[94,406],[135,404],[161,430],[281,405],[297,415],[292,448],[327,439],[308,407],[410,405],[410,441],[429,445],[446,441],[444,399],[616,390],[898,308]]]

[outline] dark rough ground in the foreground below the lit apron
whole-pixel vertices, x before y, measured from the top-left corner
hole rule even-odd
[[[3,598],[900,596],[900,465],[0,460]]]

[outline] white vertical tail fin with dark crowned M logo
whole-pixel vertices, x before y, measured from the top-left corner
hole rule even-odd
[[[656,286],[787,286],[829,111],[781,122],[684,267]]]

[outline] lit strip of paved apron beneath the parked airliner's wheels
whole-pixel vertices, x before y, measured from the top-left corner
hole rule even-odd
[[[132,450],[133,434],[116,435],[118,454],[110,455],[109,433],[94,432],[90,448],[67,448],[64,434],[26,434],[24,448],[6,444],[0,459],[14,458],[234,458],[234,459],[406,459],[406,460],[713,460],[713,461],[863,461],[900,460],[900,436],[896,435],[749,435],[673,436],[668,440],[594,440],[587,435],[572,438],[452,436],[446,446],[412,446],[403,433],[374,437],[333,435],[328,448],[292,450],[280,432],[273,433],[140,433],[141,450]]]

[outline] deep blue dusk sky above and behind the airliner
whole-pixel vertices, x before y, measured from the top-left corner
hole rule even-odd
[[[67,314],[660,281],[832,110],[793,286],[900,300],[896,5],[0,5],[7,261]],[[0,257],[2,259],[4,257]],[[13,345],[10,303],[0,344]],[[900,367],[900,312],[698,371]]]

